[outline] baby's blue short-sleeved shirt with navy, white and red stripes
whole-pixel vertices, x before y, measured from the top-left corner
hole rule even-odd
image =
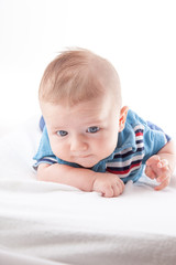
[[[96,172],[112,172],[118,174],[124,183],[134,182],[142,176],[145,161],[157,153],[170,138],[152,123],[144,121],[134,112],[129,110],[125,127],[119,132],[114,151],[95,165],[91,170]],[[34,157],[36,169],[40,163],[64,163],[76,168],[80,165],[64,161],[56,157],[51,148],[50,139],[44,126],[38,150]]]

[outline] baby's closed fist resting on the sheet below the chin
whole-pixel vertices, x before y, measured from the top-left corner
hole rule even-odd
[[[92,190],[101,192],[103,197],[118,197],[123,192],[124,183],[117,174],[98,173]]]

